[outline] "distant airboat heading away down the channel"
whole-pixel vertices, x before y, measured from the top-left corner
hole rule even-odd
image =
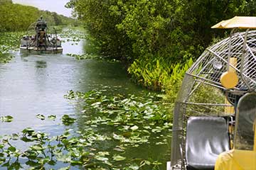
[[[26,35],[21,38],[20,50],[21,52],[62,53],[63,47],[56,31],[48,34],[47,23],[41,17],[28,27]]]

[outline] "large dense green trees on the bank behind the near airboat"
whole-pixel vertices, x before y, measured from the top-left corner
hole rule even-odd
[[[161,86],[173,65],[196,60],[214,37],[225,35],[210,26],[256,13],[252,0],[70,0],[67,6],[85,21],[102,53],[133,62],[129,73],[146,86]],[[145,67],[142,75],[137,69]]]

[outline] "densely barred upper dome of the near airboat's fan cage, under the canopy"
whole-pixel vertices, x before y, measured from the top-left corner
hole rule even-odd
[[[236,33],[230,38],[226,38],[217,44],[208,47],[199,57],[195,64],[188,70],[187,74],[196,79],[200,79],[206,84],[216,86],[219,89],[225,89],[220,84],[220,76],[228,69],[233,69],[238,74],[238,86],[232,91],[242,91],[245,89],[255,89],[256,87],[256,31],[250,31],[247,34],[245,42],[245,51],[243,44],[245,33]],[[242,53],[245,53],[242,64]],[[231,63],[230,60],[235,61]],[[229,64],[228,64],[229,63]],[[247,81],[242,80],[241,75]]]

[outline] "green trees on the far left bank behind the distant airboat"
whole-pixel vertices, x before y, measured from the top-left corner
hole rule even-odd
[[[65,25],[73,22],[73,19],[55,12],[40,11],[32,6],[12,4],[11,1],[6,0],[0,0],[0,16],[0,32],[26,30],[40,16],[43,16],[49,25]]]

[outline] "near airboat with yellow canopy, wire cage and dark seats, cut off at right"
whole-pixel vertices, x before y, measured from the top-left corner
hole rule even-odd
[[[212,28],[232,30],[183,78],[168,170],[256,169],[256,17],[235,16]]]

